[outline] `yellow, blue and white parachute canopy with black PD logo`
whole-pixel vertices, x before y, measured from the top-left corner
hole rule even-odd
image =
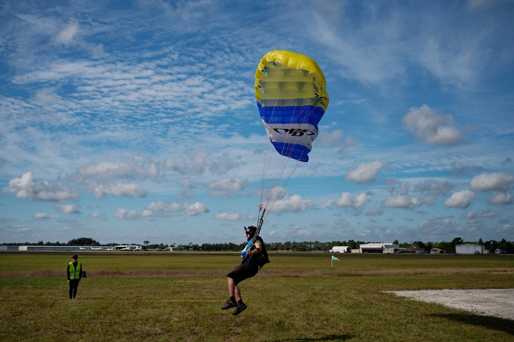
[[[328,106],[325,76],[318,64],[296,52],[266,53],[255,72],[255,98],[277,152],[308,161]]]

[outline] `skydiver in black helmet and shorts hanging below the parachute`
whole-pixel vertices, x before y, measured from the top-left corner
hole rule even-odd
[[[259,269],[269,262],[268,254],[264,247],[262,238],[258,236],[255,239],[255,243],[252,243],[256,230],[257,227],[254,226],[249,226],[248,228],[245,227],[246,240],[248,243],[241,251],[241,258],[243,258],[243,261],[241,262],[241,265],[237,265],[232,272],[227,274],[229,299],[227,303],[223,305],[222,310],[235,308],[232,315],[240,314],[247,308],[241,298],[241,291],[237,284],[256,275],[257,272],[259,272]]]

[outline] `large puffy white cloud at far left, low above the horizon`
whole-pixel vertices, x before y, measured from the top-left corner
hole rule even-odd
[[[6,188],[7,193],[14,193],[16,197],[28,201],[78,201],[79,195],[72,192],[62,184],[52,184],[38,181],[32,172],[24,173],[20,178],[13,178]]]

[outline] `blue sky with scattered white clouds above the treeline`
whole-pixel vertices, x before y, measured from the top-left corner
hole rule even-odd
[[[315,59],[266,242],[514,240],[512,1],[0,4],[0,241],[216,243],[259,214],[255,68]]]

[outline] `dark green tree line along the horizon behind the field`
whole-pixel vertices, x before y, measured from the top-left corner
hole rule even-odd
[[[268,251],[279,251],[279,250],[292,250],[292,251],[329,251],[334,246],[349,246],[352,249],[358,249],[362,244],[368,243],[382,243],[382,242],[364,242],[364,241],[331,241],[331,242],[320,242],[320,241],[286,241],[286,242],[271,242],[266,243],[266,249]],[[393,242],[396,245],[399,245],[401,248],[407,248],[409,251],[426,251],[429,252],[432,248],[438,247],[448,251],[448,253],[455,252],[455,245],[463,245],[463,244],[476,244],[476,245],[484,245],[487,250],[501,249],[505,253],[514,253],[514,241],[507,241],[502,239],[501,241],[495,240],[486,240],[483,241],[482,238],[478,241],[464,241],[462,238],[455,238],[452,241],[442,241],[442,242],[423,242],[423,241],[408,241],[400,243],[398,240]],[[37,243],[2,243],[2,245],[8,246],[23,246],[23,245],[36,245],[36,246],[116,246],[120,245],[120,243],[108,243],[108,244],[100,244],[95,239],[91,238],[78,238],[69,240],[66,243],[58,242],[46,242],[43,240],[38,241]],[[196,243],[190,242],[189,244],[163,244],[163,243],[153,243],[150,241],[143,241],[143,244],[140,243],[122,243],[122,245],[137,245],[142,246],[143,249],[165,249],[168,247],[174,247],[177,250],[198,250],[198,251],[237,251],[242,250],[246,242],[241,244],[236,243],[203,243],[198,245]]]

